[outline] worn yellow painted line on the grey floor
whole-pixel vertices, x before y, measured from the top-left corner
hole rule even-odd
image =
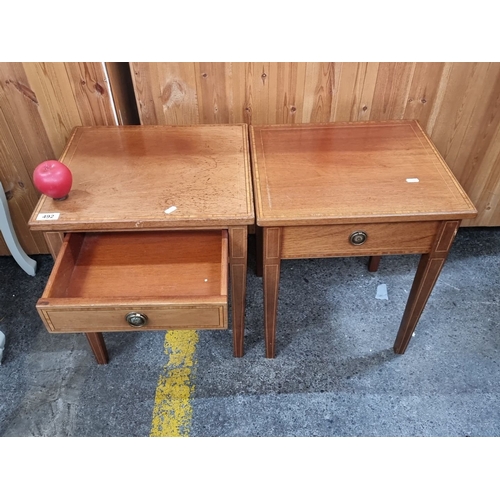
[[[156,387],[152,437],[189,436],[197,344],[196,330],[169,330],[165,335],[164,348],[169,359]]]

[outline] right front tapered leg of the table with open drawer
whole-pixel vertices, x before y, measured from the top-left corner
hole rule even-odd
[[[247,291],[248,227],[229,228],[229,275],[233,314],[233,352],[241,358],[244,353],[245,302]]]

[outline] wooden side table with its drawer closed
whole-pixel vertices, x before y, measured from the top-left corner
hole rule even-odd
[[[281,259],[422,254],[403,354],[464,218],[477,211],[417,121],[250,127],[266,357]]]

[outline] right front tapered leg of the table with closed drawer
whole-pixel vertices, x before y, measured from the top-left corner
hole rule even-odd
[[[451,244],[460,226],[460,221],[445,221],[434,240],[431,252],[422,255],[408,297],[401,326],[394,343],[394,352],[404,354],[418,320],[434,288],[439,273],[448,257]]]

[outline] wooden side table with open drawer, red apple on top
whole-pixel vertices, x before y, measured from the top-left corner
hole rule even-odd
[[[60,158],[64,201],[30,219],[56,258],[37,309],[49,332],[228,327],[243,355],[247,235],[254,223],[248,128],[77,127]]]

